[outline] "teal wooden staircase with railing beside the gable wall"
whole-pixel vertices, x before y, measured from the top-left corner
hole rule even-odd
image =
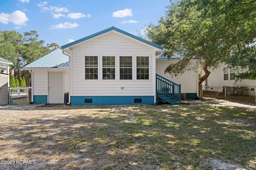
[[[181,104],[181,85],[156,74],[157,98],[173,105]]]

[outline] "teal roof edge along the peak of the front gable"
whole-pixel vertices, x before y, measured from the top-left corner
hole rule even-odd
[[[137,37],[136,35],[132,35],[132,34],[130,34],[130,33],[128,33],[128,32],[125,32],[125,31],[123,31],[123,30],[121,30],[121,29],[118,29],[118,28],[116,28],[116,27],[110,27],[110,28],[104,29],[103,31],[100,31],[100,32],[98,32],[98,33],[94,33],[94,34],[89,35],[89,36],[87,36],[87,37],[84,37],[84,38],[82,38],[82,39],[78,39],[77,41],[74,41],[74,42],[72,42],[72,43],[68,43],[68,44],[66,44],[66,45],[61,46],[61,49],[66,49],[66,48],[68,48],[68,47],[71,47],[71,46],[73,46],[73,45],[76,45],[76,44],[78,44],[78,43],[81,43],[81,42],[83,42],[83,41],[86,41],[86,40],[88,40],[88,39],[94,38],[94,37],[96,37],[96,36],[98,36],[98,35],[107,33],[107,32],[112,31],[112,30],[117,31],[117,32],[119,32],[119,33],[122,33],[122,34],[124,34],[124,35],[127,35],[127,36],[129,36],[129,37],[132,37],[132,38],[134,38],[134,39],[136,39],[136,40],[138,40],[138,41],[142,41],[143,43],[146,43],[146,44],[151,45],[151,46],[153,46],[153,47],[156,47],[156,48],[158,48],[158,49],[164,50],[164,47],[162,47],[162,46],[160,46],[160,45],[157,45],[157,44],[155,44],[155,43],[152,43],[152,42],[150,42],[150,41],[147,41],[147,40],[145,40],[145,39],[142,39],[142,38],[140,38],[140,37]]]

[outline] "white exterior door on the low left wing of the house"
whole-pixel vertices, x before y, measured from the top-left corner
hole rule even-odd
[[[49,103],[64,103],[63,72],[49,72]]]

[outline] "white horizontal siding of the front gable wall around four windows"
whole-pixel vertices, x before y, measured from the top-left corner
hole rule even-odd
[[[72,49],[72,96],[155,96],[155,48],[127,37],[111,32],[82,43]],[[84,56],[99,56],[99,70],[102,73],[102,57],[116,56],[116,79],[104,80],[103,74],[98,74],[98,80],[84,80]],[[132,57],[132,80],[120,80],[119,57]],[[136,80],[135,56],[149,56],[150,80]]]

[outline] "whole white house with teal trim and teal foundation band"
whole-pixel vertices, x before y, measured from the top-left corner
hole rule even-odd
[[[61,49],[24,67],[32,73],[35,104],[64,103],[67,92],[71,105],[157,104],[158,98],[180,104],[198,96],[198,72],[171,78],[164,69],[178,60],[160,57],[164,47],[116,27]]]

